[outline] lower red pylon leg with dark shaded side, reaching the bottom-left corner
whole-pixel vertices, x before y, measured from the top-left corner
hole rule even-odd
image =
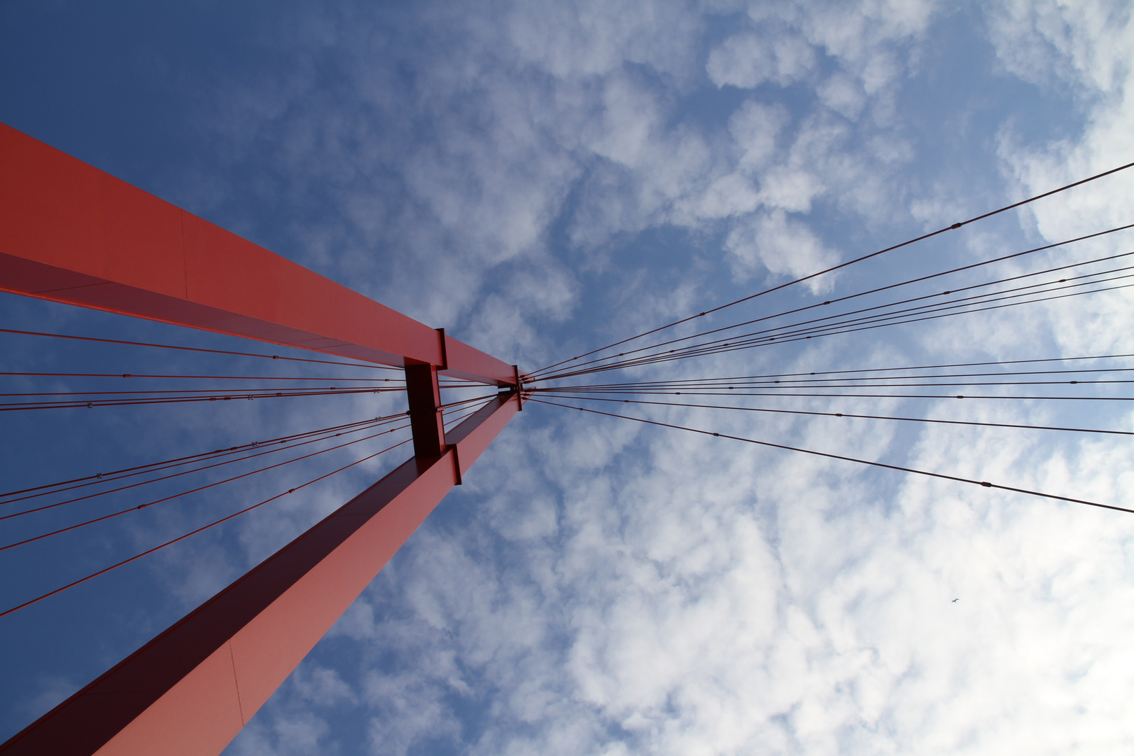
[[[519,409],[501,393],[109,672],[2,756],[215,756]]]

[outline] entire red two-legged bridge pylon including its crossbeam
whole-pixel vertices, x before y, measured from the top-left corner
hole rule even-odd
[[[219,754],[521,409],[522,374],[0,125],[0,290],[404,367],[414,457],[2,756]],[[438,376],[503,391],[445,432]]]

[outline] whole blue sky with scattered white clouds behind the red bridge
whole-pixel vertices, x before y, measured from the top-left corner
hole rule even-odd
[[[1131,7],[1107,2],[8,1],[0,120],[533,369],[1134,160],[1131,50]],[[1128,223],[1132,181],[710,323]],[[1131,305],[1108,292],[629,377],[1126,354]],[[0,315],[261,351],[8,295]],[[2,345],[6,371],[261,369]],[[9,413],[39,417],[2,419],[2,487],[398,410],[290,401]],[[1082,404],[777,406],[1134,430],[1124,402]],[[1122,436],[748,415],[640,411],[1134,506]],[[0,619],[2,734],[400,455]],[[18,576],[5,605],[330,464],[0,553]],[[528,405],[226,753],[1127,753],[1132,559],[1129,516]]]

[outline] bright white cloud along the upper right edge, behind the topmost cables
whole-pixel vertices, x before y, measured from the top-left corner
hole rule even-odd
[[[1012,131],[1002,133],[999,156],[1024,196],[1134,161],[1128,138],[1134,22],[1128,10],[1109,3],[1014,3],[992,15],[990,31],[998,56],[1015,75],[1089,103],[1075,138],[1023,145]],[[1134,192],[1132,170],[1064,193],[1058,201],[1034,203],[1024,212],[1026,222],[1051,241],[1128,223],[1128,209],[1115,198]],[[1120,232],[1052,258],[1066,263],[1083,260],[1088,250],[1092,256],[1125,252],[1127,238]],[[1134,323],[1132,303],[1128,289],[1057,303],[1053,307],[1064,313],[1053,329],[1058,343],[1069,352],[1125,350],[1125,334]]]

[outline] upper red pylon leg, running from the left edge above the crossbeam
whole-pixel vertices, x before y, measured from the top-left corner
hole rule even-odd
[[[510,365],[2,124],[0,290],[515,383]]]

